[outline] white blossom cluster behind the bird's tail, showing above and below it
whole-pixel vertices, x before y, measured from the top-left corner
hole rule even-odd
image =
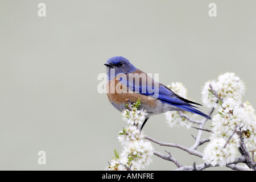
[[[181,82],[172,82],[171,85],[167,85],[169,89],[174,91],[181,97],[187,98],[187,88]],[[187,111],[181,111],[183,114],[186,114],[187,117],[193,118],[195,114],[189,113]],[[192,125],[192,122],[189,122],[188,119],[180,117],[179,111],[167,111],[165,113],[167,125],[170,127],[179,127],[184,126],[189,129]]]

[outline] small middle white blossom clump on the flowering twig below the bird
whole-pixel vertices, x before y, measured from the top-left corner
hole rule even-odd
[[[134,140],[143,139],[144,134],[142,131],[137,129],[137,126],[129,126],[119,131],[118,140],[122,144],[122,146],[126,146],[128,142]]]

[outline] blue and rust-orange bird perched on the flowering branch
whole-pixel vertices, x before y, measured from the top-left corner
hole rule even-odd
[[[134,67],[125,57],[111,57],[104,65],[107,67],[108,75],[106,93],[115,109],[122,112],[127,109],[127,100],[133,103],[140,99],[139,109],[147,111],[148,115],[142,123],[141,130],[152,115],[167,111],[189,111],[212,119],[209,115],[197,110],[197,106],[194,106],[202,106],[201,104],[189,101],[167,86],[153,80],[147,73]]]

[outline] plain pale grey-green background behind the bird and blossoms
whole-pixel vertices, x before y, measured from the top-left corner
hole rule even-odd
[[[46,3],[46,17],[38,3]],[[0,1],[0,169],[102,170],[127,124],[97,92],[109,57],[124,56],[163,84],[183,82],[201,103],[205,81],[234,72],[256,106],[255,1]],[[206,107],[202,110],[207,112]],[[208,125],[210,122],[208,122]],[[152,117],[145,134],[190,147],[195,129]],[[208,137],[205,134],[204,137]],[[176,148],[182,164],[197,159]],[[47,164],[38,164],[38,151]],[[203,150],[203,147],[199,147]],[[146,169],[175,165],[158,157]],[[224,169],[224,168],[218,168]]]

